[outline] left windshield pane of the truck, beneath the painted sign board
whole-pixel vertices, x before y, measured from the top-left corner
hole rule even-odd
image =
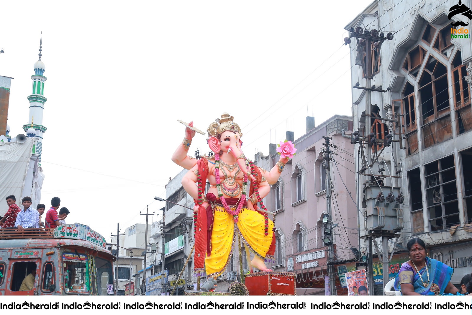
[[[87,255],[64,253],[62,255],[64,290],[67,294],[89,295]]]

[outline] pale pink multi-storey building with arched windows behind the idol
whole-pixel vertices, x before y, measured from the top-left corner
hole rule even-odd
[[[328,214],[326,200],[325,139],[330,136],[331,217],[329,236],[334,244],[334,261],[355,258],[358,248],[358,215],[355,203],[354,149],[350,136],[352,117],[335,115],[314,128],[314,118],[306,118],[307,132],[295,139],[297,153],[287,162],[277,184],[272,185],[265,204],[276,216],[276,252],[271,268],[297,274],[297,294],[324,294],[328,247],[323,216]],[[292,137],[292,139],[290,139]],[[293,132],[287,132],[293,139]],[[269,156],[256,154],[255,162],[270,168],[278,161],[277,145],[270,145]],[[336,268],[335,268],[336,270]],[[337,289],[342,290],[339,281]]]

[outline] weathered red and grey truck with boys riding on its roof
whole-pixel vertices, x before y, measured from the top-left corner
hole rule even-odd
[[[74,223],[0,230],[0,295],[112,295],[105,238]]]

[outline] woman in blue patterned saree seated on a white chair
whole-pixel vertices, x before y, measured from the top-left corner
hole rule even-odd
[[[454,270],[447,264],[426,257],[426,245],[421,238],[412,238],[406,245],[410,260],[402,264],[394,287],[402,295],[457,294],[450,282]]]

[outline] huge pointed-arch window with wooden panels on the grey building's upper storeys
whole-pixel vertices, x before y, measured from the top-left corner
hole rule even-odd
[[[420,143],[421,148],[426,149],[451,139],[451,100],[454,99],[459,108],[470,104],[469,90],[463,79],[466,66],[462,65],[460,51],[451,43],[450,33],[450,25],[439,30],[425,23],[421,39],[406,54],[402,67],[407,79],[402,91],[402,125],[407,154],[419,152]],[[449,97],[450,91],[454,98]],[[464,119],[463,114],[467,116]],[[465,132],[464,121],[469,125],[467,128],[472,128],[469,117],[472,117],[470,107],[463,112],[456,111],[457,134]]]

